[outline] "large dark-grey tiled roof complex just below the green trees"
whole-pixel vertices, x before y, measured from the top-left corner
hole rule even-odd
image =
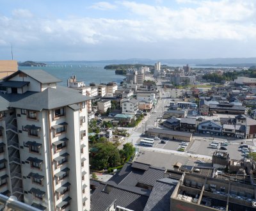
[[[150,190],[136,187],[137,184],[154,186],[164,178],[163,168],[154,168],[140,162],[127,162],[108,182],[102,182],[91,196],[91,210],[106,210],[115,205],[142,211],[150,196]]]

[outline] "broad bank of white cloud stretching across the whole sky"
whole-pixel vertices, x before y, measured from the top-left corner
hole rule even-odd
[[[131,48],[159,44],[162,49],[179,43],[183,48],[183,40],[193,43],[222,40],[221,45],[232,42],[234,46],[243,42],[247,48],[250,47],[248,40],[256,43],[256,3],[249,0],[205,0],[189,7],[192,0],[177,1],[183,4],[175,10],[163,4],[152,6],[132,1],[93,4],[99,10],[113,10],[117,6],[121,11],[125,9],[124,13],[128,15],[120,19],[103,16],[29,19],[32,14],[28,10],[13,10],[12,17],[0,16],[0,46],[6,46],[6,43],[20,48],[45,49],[88,49],[90,46],[93,51],[92,48],[107,45],[122,48],[124,44]]]

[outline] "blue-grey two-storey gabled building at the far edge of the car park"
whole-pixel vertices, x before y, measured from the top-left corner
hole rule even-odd
[[[222,125],[216,121],[203,121],[198,124],[198,132],[201,134],[209,134],[214,136],[221,136]]]

